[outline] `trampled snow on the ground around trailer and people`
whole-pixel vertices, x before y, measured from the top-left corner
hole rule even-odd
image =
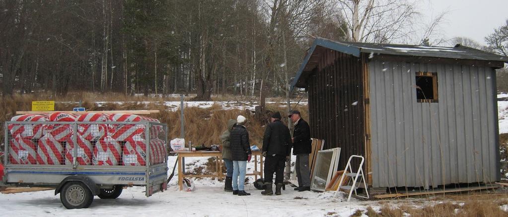
[[[169,157],[170,168],[175,160]],[[206,162],[206,158],[187,158],[186,169]],[[253,166],[250,162],[247,168]],[[124,189],[114,200],[96,196],[87,209],[66,209],[54,191],[0,194],[0,216],[350,216],[357,209],[379,206],[377,201],[355,198],[344,202],[347,196],[342,192],[334,198],[334,192],[297,192],[289,186],[282,195],[262,196],[253,184],[247,184],[245,191],[251,195],[236,196],[224,192],[223,182],[210,178],[195,180],[195,191],[185,192],[178,190],[177,179],[175,175],[168,191],[148,198],[142,187]]]

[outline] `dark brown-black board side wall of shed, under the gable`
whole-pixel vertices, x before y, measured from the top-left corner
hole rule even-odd
[[[325,140],[323,149],[341,147],[338,168],[342,170],[352,154],[365,154],[360,59],[323,49],[320,63],[307,80],[307,90],[311,136]]]

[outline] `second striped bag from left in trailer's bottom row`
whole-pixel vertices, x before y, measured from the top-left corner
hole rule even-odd
[[[63,146],[51,134],[43,136],[37,145],[37,163],[63,165]]]

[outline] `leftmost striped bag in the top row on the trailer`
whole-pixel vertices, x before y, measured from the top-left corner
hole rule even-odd
[[[40,114],[24,114],[18,115],[11,118],[11,121],[48,121],[49,118],[46,115]],[[22,123],[10,123],[7,126],[11,132],[12,137],[20,135],[26,139],[40,139],[44,136],[45,124],[34,123],[34,124],[22,124]]]

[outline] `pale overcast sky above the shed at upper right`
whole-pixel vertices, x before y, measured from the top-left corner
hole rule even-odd
[[[446,38],[467,37],[483,45],[484,38],[508,19],[508,0],[427,0],[421,6],[429,20],[448,11],[441,24]]]

